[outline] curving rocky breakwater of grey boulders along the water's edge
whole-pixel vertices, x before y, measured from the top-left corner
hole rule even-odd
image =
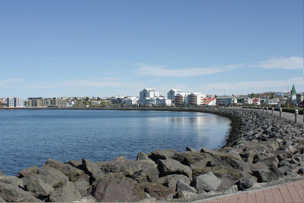
[[[99,108],[102,109],[102,108]],[[103,108],[105,109],[105,108]],[[186,147],[140,152],[136,160],[48,159],[16,177],[0,173],[0,201],[97,202],[170,201],[184,194],[229,194],[257,183],[303,174],[303,128],[270,114],[228,108],[107,108],[113,110],[196,111],[227,116],[232,129],[221,149]],[[182,199],[181,199],[182,200]]]

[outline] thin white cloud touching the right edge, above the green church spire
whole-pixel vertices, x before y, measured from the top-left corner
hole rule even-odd
[[[268,69],[302,69],[303,58],[300,57],[289,57],[289,58],[278,58],[269,59],[267,61],[260,61],[258,64],[250,65],[254,68],[268,68]]]

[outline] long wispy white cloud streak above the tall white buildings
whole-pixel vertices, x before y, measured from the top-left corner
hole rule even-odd
[[[245,64],[232,64],[227,66],[212,66],[206,68],[183,68],[169,69],[160,65],[135,64],[138,75],[149,75],[155,77],[191,77],[198,75],[209,75],[213,73],[231,71],[235,68],[242,68]]]

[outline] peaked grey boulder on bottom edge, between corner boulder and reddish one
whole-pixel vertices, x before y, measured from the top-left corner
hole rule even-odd
[[[81,199],[81,194],[70,181],[50,194],[51,202],[74,202],[81,201]]]

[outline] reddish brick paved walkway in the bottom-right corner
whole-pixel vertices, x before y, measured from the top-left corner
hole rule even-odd
[[[241,192],[229,196],[196,201],[196,203],[304,202],[303,188],[304,180],[299,180],[265,190]]]

